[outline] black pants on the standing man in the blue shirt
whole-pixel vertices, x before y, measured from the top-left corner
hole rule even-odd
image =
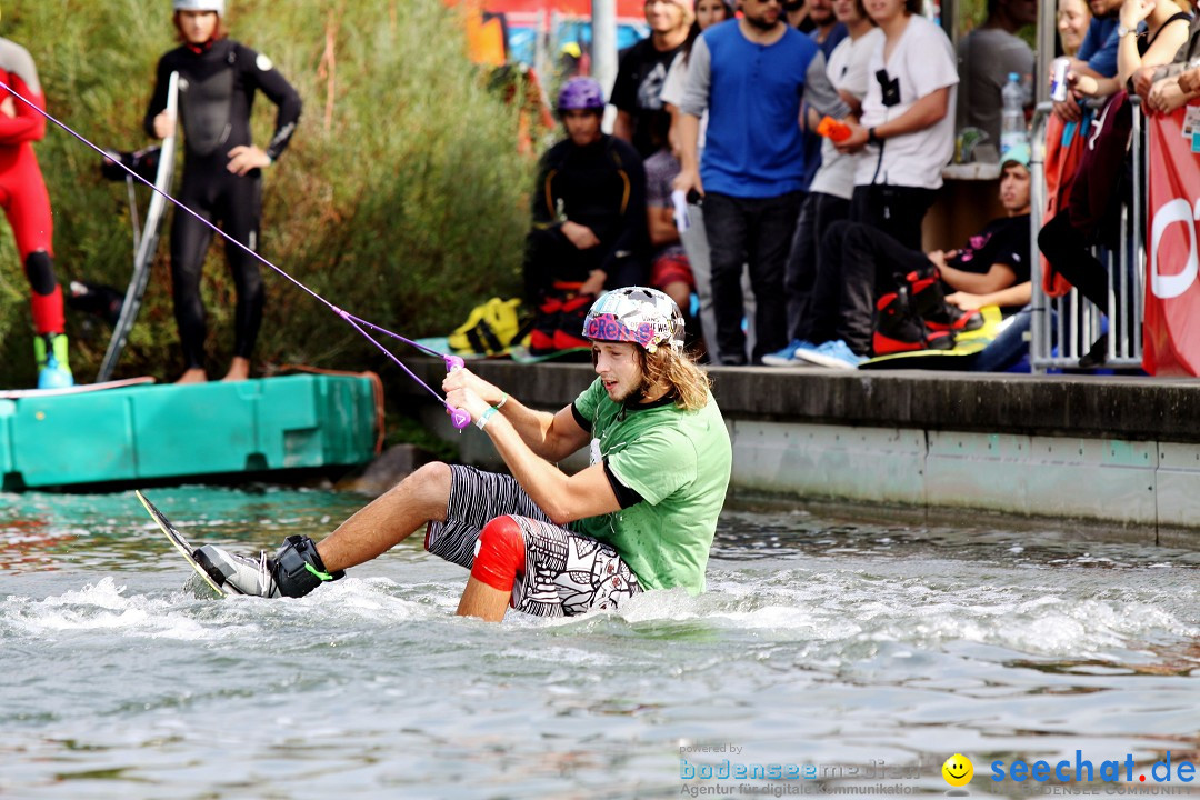
[[[750,265],[750,285],[757,303],[752,361],[761,363],[763,354],[787,344],[784,270],[803,199],[804,192],[769,198],[738,198],[716,192],[704,196],[716,345],[724,363],[745,363],[743,264]]]

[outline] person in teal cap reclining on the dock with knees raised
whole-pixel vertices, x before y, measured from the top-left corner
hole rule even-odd
[[[881,318],[895,313],[889,303],[898,299],[906,299],[912,307],[912,314],[905,309],[906,317],[924,317],[923,330],[908,336],[911,341],[887,342],[888,353],[950,344],[938,339],[948,338],[947,333],[965,321],[944,307],[943,297],[950,291],[991,295],[1025,284],[1025,291],[1008,296],[1012,305],[1002,309],[1019,311],[1030,297],[1027,146],[1006,155],[1000,199],[1007,216],[989,222],[966,246],[949,252],[910,249],[862,223],[830,225],[821,241],[811,311],[803,321],[808,330],[800,331],[802,339],[817,347],[797,350],[797,357],[823,366],[856,367],[872,354],[881,355],[876,351],[876,309]]]

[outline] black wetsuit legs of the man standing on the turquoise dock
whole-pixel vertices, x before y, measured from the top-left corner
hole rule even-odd
[[[258,249],[258,223],[263,207],[263,179],[259,170],[239,176],[220,162],[187,166],[180,201],[212,223],[220,223],[234,241]],[[212,229],[186,211],[176,210],[170,227],[170,276],[175,300],[175,321],[188,369],[204,367],[204,338],[208,326],[200,300],[200,272],[212,242]],[[248,359],[263,323],[263,276],[258,259],[235,245],[226,245],[226,260],[236,290],[234,308],[234,355]]]

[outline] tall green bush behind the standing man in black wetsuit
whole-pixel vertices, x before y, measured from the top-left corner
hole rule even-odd
[[[271,56],[305,101],[290,148],[265,179],[264,257],[337,306],[409,337],[449,332],[480,300],[518,291],[534,163],[517,156],[515,112],[469,64],[452,12],[434,0],[232,0],[227,22],[233,38]],[[148,144],[142,120],[154,67],[175,46],[167,0],[6,4],[0,34],[34,55],[52,114],[101,146]],[[256,142],[270,138],[274,120],[275,107],[260,96]],[[54,207],[60,283],[86,278],[124,290],[132,263],[125,186],[102,181],[100,157],[53,125],[36,150]],[[144,205],[145,190],[140,198]],[[0,385],[28,385],[29,289],[2,228]],[[168,229],[169,218],[118,375],[169,379],[181,368]],[[383,366],[344,321],[263,269],[268,306],[256,369]],[[203,294],[209,369],[220,377],[233,348],[234,296],[221,243],[210,249]],[[109,329],[72,312],[67,325],[77,379],[90,380]]]

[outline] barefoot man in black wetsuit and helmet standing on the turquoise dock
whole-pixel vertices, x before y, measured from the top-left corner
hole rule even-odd
[[[300,119],[300,95],[269,58],[226,37],[224,0],[173,1],[175,28],[184,44],[158,60],[157,83],[145,116],[146,132],[161,139],[175,125],[164,109],[170,73],[178,72],[186,142],[179,199],[205,219],[220,222],[234,240],[257,251],[262,169],[287,148]],[[278,107],[275,136],[265,149],[254,146],[250,134],[256,90],[262,90]],[[180,383],[208,379],[200,270],[211,240],[210,228],[176,210],[170,228],[170,271],[186,366]],[[263,278],[258,261],[240,247],[230,245],[226,257],[238,305],[234,355],[224,379],[245,380],[250,377],[250,354],[263,319]]]

